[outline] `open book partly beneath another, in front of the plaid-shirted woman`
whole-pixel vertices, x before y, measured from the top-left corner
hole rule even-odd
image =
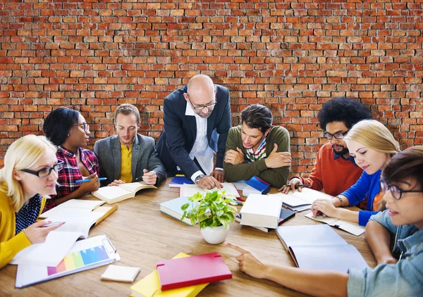
[[[81,199],[71,199],[64,203],[59,204],[55,208],[51,208],[51,210],[47,210],[45,213],[42,213],[39,218],[46,218],[46,217],[61,217],[61,215],[66,215],[66,212],[71,210],[72,212],[81,212],[81,213],[102,213],[102,216],[99,217],[95,225],[102,222],[106,217],[111,215],[116,209],[118,209],[118,205],[115,204],[114,206],[102,206],[105,202],[98,201],[98,200],[81,200]]]

